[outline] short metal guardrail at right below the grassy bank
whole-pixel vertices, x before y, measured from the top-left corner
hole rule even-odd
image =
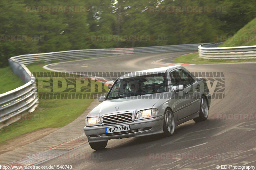
[[[200,45],[198,47],[199,57],[225,60],[256,58],[256,46],[218,47],[221,43],[223,42]]]

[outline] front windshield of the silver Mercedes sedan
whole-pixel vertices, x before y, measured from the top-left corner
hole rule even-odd
[[[150,74],[116,81],[107,99],[137,96],[167,91],[165,73]]]

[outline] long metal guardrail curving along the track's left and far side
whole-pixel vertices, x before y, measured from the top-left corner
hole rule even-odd
[[[120,54],[162,53],[173,51],[197,50],[201,44],[183,44],[171,46],[84,49],[60,51],[42,54],[28,54],[11,57],[9,65],[15,74],[24,81],[25,85],[12,91],[0,94],[0,128],[20,119],[22,113],[32,112],[38,103],[35,78],[25,65],[35,62],[65,61],[83,59],[86,57],[100,57]]]

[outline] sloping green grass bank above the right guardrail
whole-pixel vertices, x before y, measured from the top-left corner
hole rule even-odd
[[[222,36],[225,41],[219,47],[237,47],[237,46],[252,46],[256,45],[256,18],[246,24],[242,29],[228,40]]]

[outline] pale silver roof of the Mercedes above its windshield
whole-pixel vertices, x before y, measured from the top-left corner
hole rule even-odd
[[[134,72],[125,74],[120,78],[122,79],[122,78],[131,78],[135,76],[143,76],[143,75],[149,75],[149,74],[165,73],[167,70],[172,70],[180,67],[181,67],[180,65],[175,65],[175,66],[159,67],[159,68],[148,69],[148,70],[134,71]]]

